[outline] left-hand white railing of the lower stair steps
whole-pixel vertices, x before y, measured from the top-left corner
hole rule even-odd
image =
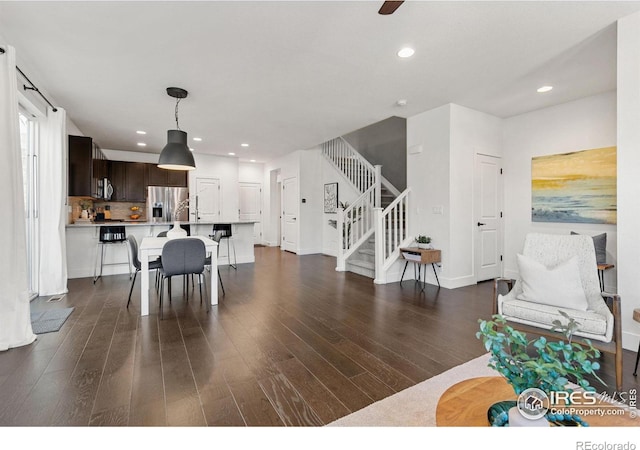
[[[379,191],[379,189],[378,189]],[[375,231],[373,226],[373,205],[376,186],[367,189],[346,208],[338,208],[338,254],[336,270],[344,271],[347,258]]]

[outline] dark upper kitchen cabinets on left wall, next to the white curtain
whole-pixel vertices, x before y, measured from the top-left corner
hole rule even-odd
[[[92,138],[69,135],[69,196],[100,197],[99,180],[107,170],[107,158]]]

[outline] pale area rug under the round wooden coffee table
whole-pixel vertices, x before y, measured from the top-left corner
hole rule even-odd
[[[487,367],[489,354],[456,366],[360,411],[344,416],[329,427],[435,427],[440,396],[459,381],[473,377],[496,376]]]

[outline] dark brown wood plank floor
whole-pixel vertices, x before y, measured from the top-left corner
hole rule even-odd
[[[334,267],[256,247],[255,264],[221,268],[210,312],[174,283],[164,320],[155,296],[140,317],[139,284],[126,308],[126,275],[70,280],[61,302],[32,303],[75,307],[62,329],[0,353],[0,425],[319,426],[484,353],[490,282],[422,292]],[[626,389],[634,362],[626,352]]]

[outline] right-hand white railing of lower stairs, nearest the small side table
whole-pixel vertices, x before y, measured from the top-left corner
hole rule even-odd
[[[402,192],[384,210],[375,208],[375,267],[376,283],[385,283],[385,273],[400,256],[400,248],[413,237],[409,236],[409,193]]]

